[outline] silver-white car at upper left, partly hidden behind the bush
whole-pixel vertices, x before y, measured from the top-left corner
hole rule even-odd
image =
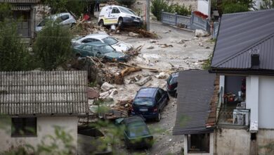
[[[39,32],[42,30],[42,28],[46,25],[46,23],[52,20],[53,22],[56,22],[60,25],[64,25],[67,27],[72,27],[73,25],[76,24],[76,20],[70,13],[58,13],[53,16],[48,16],[41,20],[41,22],[35,27],[35,31]]]

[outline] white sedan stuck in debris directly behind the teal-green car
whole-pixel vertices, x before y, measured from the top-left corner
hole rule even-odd
[[[86,35],[85,37],[74,38],[72,39],[72,46],[78,46],[87,42],[103,42],[105,44],[109,44],[113,47],[113,49],[120,52],[129,51],[129,49],[133,48],[131,44],[126,44],[121,41],[119,42],[117,39],[107,34],[91,34]]]

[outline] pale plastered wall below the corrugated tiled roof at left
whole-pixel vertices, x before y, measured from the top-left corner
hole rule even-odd
[[[11,118],[0,118],[0,151],[24,144],[36,147],[39,142],[52,142],[46,135],[55,136],[54,126],[61,127],[73,137],[72,144],[77,149],[77,116],[73,117],[39,117],[37,118],[37,137],[11,137]],[[60,145],[61,143],[58,142]]]

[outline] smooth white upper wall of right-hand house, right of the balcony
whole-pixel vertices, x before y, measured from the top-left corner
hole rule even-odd
[[[257,121],[259,128],[274,129],[274,77],[256,76],[247,77],[247,109],[251,109],[252,123]]]

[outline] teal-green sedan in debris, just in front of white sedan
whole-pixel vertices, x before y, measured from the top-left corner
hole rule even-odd
[[[103,42],[89,42],[73,47],[75,56],[96,56],[103,57],[107,61],[127,61],[128,56],[116,51],[109,44]]]

